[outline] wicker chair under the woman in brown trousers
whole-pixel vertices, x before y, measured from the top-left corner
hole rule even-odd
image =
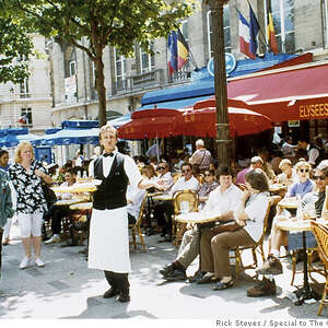
[[[265,250],[263,250],[263,239],[265,239],[267,227],[268,227],[268,218],[269,218],[269,213],[270,213],[270,207],[271,207],[271,199],[269,201],[266,216],[263,220],[262,235],[261,235],[260,239],[258,241],[258,243],[256,243],[256,245],[254,245],[254,246],[238,246],[238,247],[231,249],[233,254],[230,255],[230,258],[235,259],[236,280],[238,279],[238,276],[242,271],[245,271],[247,269],[256,269],[257,268],[258,262],[257,262],[257,254],[256,253],[260,254],[262,261],[266,260]],[[253,263],[244,266],[243,260],[242,260],[242,254],[246,249],[251,250]]]

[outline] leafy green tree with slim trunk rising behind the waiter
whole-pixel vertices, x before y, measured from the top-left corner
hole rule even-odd
[[[166,37],[179,20],[189,16],[195,0],[0,0],[25,26],[82,49],[94,62],[99,125],[106,124],[103,51],[107,45],[125,56],[136,43],[150,49],[156,37]],[[1,9],[1,5],[0,5]],[[86,46],[82,44],[86,38]],[[149,50],[151,51],[151,50]]]

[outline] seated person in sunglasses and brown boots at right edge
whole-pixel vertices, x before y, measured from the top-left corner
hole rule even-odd
[[[315,169],[313,179],[316,183],[316,191],[308,192],[303,198],[304,206],[314,203],[316,216],[321,216],[321,211],[326,198],[326,186],[328,185],[328,168]],[[271,249],[263,266],[257,270],[259,274],[265,274],[263,279],[247,291],[247,296],[257,297],[276,294],[276,283],[272,276],[282,273],[282,266],[279,260],[280,247],[288,245],[288,235],[281,236],[281,230],[276,229],[270,236]]]

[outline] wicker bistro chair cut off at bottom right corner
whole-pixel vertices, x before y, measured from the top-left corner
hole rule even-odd
[[[327,270],[328,270],[328,227],[321,223],[312,221],[311,230],[316,237],[316,241],[318,244],[319,257],[321,258],[321,260],[324,262],[325,270],[327,273]],[[328,276],[326,274],[326,283],[325,283],[325,289],[324,289],[324,293],[323,293],[323,298],[320,300],[320,305],[319,305],[319,308],[317,312],[318,316],[321,314],[324,305],[328,305],[327,291],[328,291]]]

